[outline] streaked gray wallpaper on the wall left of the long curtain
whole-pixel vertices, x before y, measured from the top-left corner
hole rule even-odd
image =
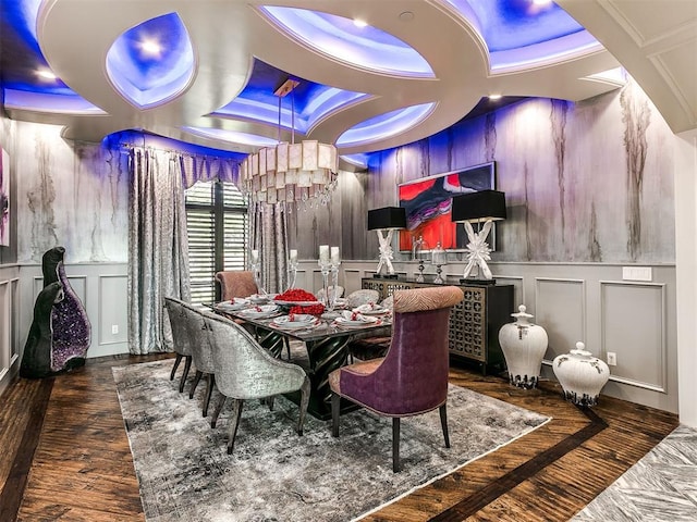
[[[17,261],[40,262],[61,245],[70,263],[126,262],[125,156],[65,141],[60,126],[16,122],[16,130]]]

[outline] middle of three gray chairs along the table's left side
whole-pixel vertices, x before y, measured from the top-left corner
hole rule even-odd
[[[188,336],[192,346],[192,360],[196,368],[194,382],[188,391],[188,398],[194,398],[194,393],[201,378],[206,377],[206,391],[204,394],[203,413],[204,417],[208,417],[208,405],[210,403],[210,396],[216,387],[216,366],[213,364],[213,355],[210,347],[209,336],[206,334],[206,324],[204,322],[203,313],[195,307],[179,301],[182,310],[183,318],[188,330]]]

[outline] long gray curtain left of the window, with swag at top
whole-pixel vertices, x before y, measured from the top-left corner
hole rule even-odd
[[[235,182],[233,160],[133,148],[129,159],[129,347],[172,351],[163,298],[191,301],[184,189],[198,181]]]

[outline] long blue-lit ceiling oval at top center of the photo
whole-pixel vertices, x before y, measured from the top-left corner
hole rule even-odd
[[[432,69],[412,47],[375,27],[305,9],[265,5],[260,11],[301,41],[335,60],[359,69],[408,77],[432,78]]]

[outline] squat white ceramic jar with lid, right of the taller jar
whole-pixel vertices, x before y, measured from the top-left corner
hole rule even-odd
[[[557,356],[552,370],[564,389],[566,400],[584,407],[598,403],[600,390],[610,378],[608,364],[586,351],[583,343],[576,343],[576,349],[571,353]]]

